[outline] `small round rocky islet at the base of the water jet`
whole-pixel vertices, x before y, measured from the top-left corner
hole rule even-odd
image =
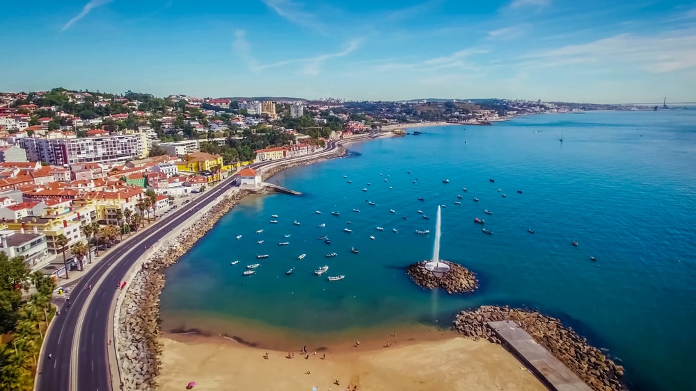
[[[442,277],[425,268],[427,261],[414,263],[406,267],[406,274],[409,274],[413,281],[423,288],[443,288],[448,293],[473,292],[478,288],[478,280],[473,272],[458,263],[442,260],[441,262],[450,265],[450,271]]]

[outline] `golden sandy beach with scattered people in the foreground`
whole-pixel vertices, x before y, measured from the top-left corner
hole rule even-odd
[[[546,390],[498,344],[443,333],[439,340],[346,342],[344,347],[287,351],[248,347],[226,338],[167,335],[161,338],[160,390]],[[170,338],[171,337],[171,338]],[[387,340],[393,341],[390,347]],[[338,380],[339,384],[334,382]]]

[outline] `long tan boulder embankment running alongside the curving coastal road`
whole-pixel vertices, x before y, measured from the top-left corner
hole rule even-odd
[[[162,271],[177,262],[193,244],[213,228],[218,219],[251,194],[240,190],[221,200],[176,238],[164,244],[134,276],[124,293],[117,331],[118,362],[125,390],[155,390],[159,374],[159,294],[164,288]]]

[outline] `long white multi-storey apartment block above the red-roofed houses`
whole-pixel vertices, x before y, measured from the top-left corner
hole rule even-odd
[[[74,163],[122,163],[148,156],[148,140],[144,133],[90,138],[22,138],[19,147],[30,161],[49,165]]]

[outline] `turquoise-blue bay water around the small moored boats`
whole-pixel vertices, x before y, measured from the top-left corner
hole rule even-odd
[[[696,110],[535,115],[415,130],[425,134],[353,144],[349,158],[271,179],[303,197],[244,200],[168,269],[164,328],[244,338],[235,330],[241,321],[288,334],[341,333],[412,322],[448,326],[457,310],[482,304],[529,306],[562,317],[621,358],[635,388],[696,388],[688,375],[696,365]],[[434,229],[439,204],[446,206],[441,258],[480,276],[474,294],[427,292],[404,274],[406,265],[432,256],[434,234],[413,231]],[[279,223],[269,224],[274,214]],[[486,219],[493,235],[474,217]],[[332,252],[338,256],[324,257]],[[260,253],[270,257],[257,261]],[[301,253],[306,258],[297,260]],[[257,262],[257,273],[243,277]],[[329,272],[315,276],[322,265]],[[285,276],[290,267],[294,273]],[[339,274],[343,281],[326,281]]]

